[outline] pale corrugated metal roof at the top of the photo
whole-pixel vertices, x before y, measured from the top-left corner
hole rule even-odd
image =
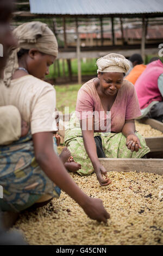
[[[106,15],[163,13],[162,0],[29,0],[30,13]]]

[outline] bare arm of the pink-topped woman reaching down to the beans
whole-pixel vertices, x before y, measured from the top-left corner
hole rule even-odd
[[[87,124],[88,124],[88,122],[90,124],[92,124],[92,127],[93,127],[93,124],[94,124],[93,118],[87,119],[86,122],[87,122]],[[82,129],[82,121],[80,122],[80,126]],[[88,125],[87,125],[87,127],[88,127]],[[98,160],[96,143],[95,143],[93,133],[94,133],[93,129],[85,130],[83,127],[82,134],[83,134],[84,147],[85,147],[86,153],[90,157],[90,160],[92,162],[92,166],[95,170],[99,184],[101,186],[108,186],[111,183],[111,181],[107,178],[107,171],[105,170],[105,168],[102,166],[102,164]],[[106,177],[105,179],[103,178],[103,175]]]

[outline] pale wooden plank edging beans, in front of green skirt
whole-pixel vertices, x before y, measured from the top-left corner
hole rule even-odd
[[[163,174],[163,159],[99,159],[108,172]]]

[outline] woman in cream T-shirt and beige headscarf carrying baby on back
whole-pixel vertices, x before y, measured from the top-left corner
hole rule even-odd
[[[18,141],[0,147],[0,185],[4,191],[0,207],[19,212],[39,206],[59,197],[61,188],[90,218],[106,222],[109,214],[102,201],[79,189],[53,149],[55,90],[41,80],[57,57],[57,40],[42,22],[24,23],[14,35],[18,46],[10,52],[4,70],[0,105],[17,107],[30,129]]]

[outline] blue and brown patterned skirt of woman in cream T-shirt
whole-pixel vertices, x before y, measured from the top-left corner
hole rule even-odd
[[[35,161],[30,131],[19,141],[0,147],[0,185],[3,187],[2,211],[27,209],[44,194],[59,198],[60,188]]]

